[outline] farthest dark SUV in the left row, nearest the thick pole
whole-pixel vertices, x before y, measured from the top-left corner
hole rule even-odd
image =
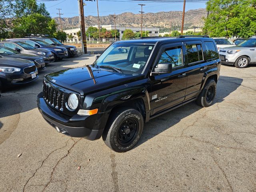
[[[68,56],[69,57],[74,57],[75,55],[78,54],[76,46],[64,45],[63,43],[58,41],[56,38],[48,38],[48,37],[28,37],[28,38],[36,38],[36,39],[45,41],[46,43],[49,43],[49,44],[54,45],[54,46],[64,47],[68,50]]]

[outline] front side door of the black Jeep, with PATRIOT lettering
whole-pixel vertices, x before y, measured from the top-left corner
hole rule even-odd
[[[154,66],[158,63],[172,64],[172,72],[150,76],[152,83],[150,94],[151,115],[181,104],[186,93],[187,76],[182,43],[162,46]]]

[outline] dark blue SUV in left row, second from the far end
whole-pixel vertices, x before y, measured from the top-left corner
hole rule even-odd
[[[50,52],[52,52],[53,56],[54,56],[54,61],[57,60],[62,60],[63,58],[67,58],[68,57],[68,50],[64,47],[60,47],[60,46],[53,46],[50,45],[44,41],[38,40],[38,39],[32,39],[32,38],[20,38],[20,39],[8,39],[8,41],[13,41],[13,42],[24,42],[27,43],[31,46],[33,46],[34,48],[43,48],[43,49],[47,49]]]

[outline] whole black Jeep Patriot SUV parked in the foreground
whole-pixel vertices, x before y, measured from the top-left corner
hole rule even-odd
[[[218,49],[207,36],[142,38],[111,44],[90,66],[48,74],[37,104],[58,132],[130,150],[145,122],[196,100],[213,103]]]

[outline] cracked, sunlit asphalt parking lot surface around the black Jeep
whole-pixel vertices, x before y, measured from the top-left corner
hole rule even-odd
[[[36,106],[45,74],[94,60],[51,63],[38,80],[2,93],[0,191],[256,191],[256,65],[222,65],[212,106],[192,102],[150,120],[120,154],[102,139],[58,133]]]

